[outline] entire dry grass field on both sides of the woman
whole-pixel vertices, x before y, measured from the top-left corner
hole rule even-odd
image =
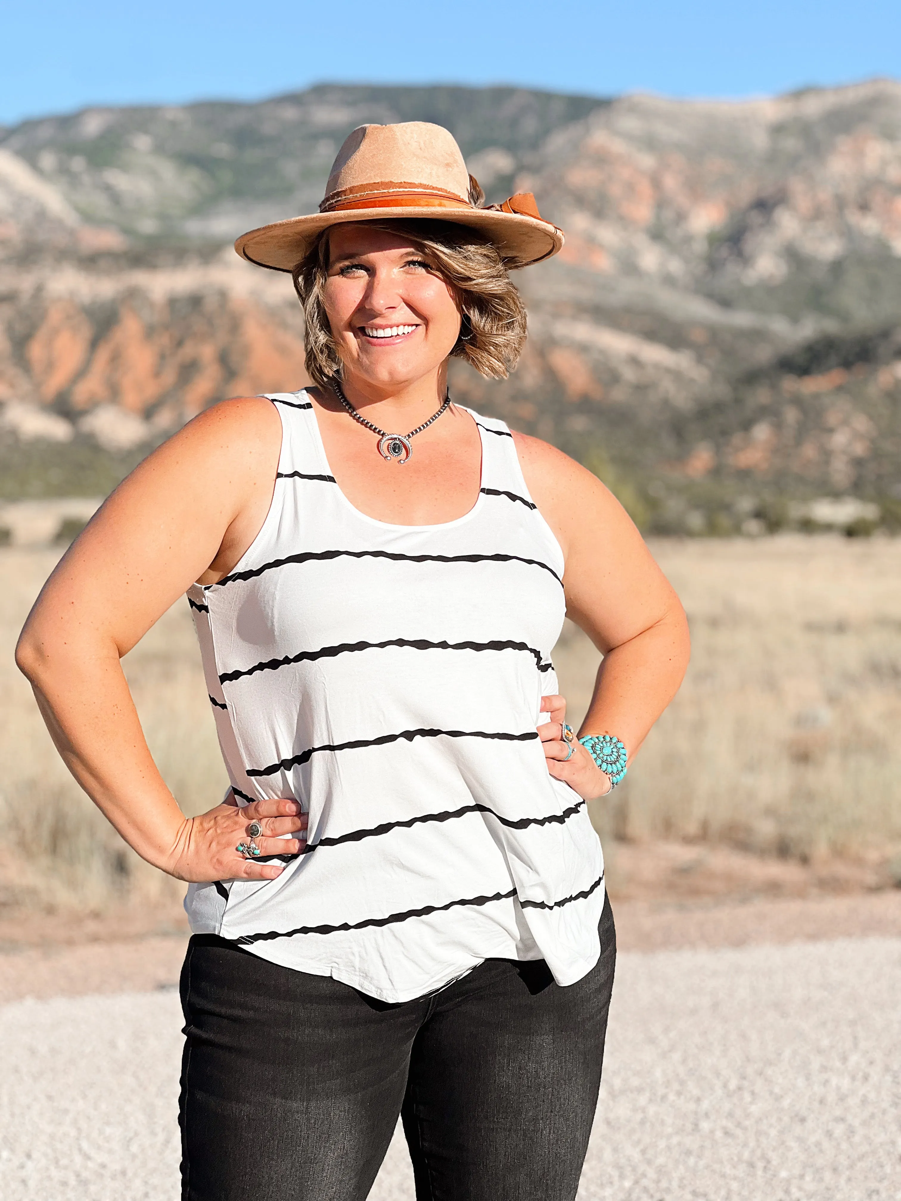
[[[836,878],[901,883],[901,540],[652,549],[685,603],[694,650],[627,781],[593,807],[614,888],[667,872],[678,883],[699,853],[758,879],[842,865]],[[80,794],[12,662],[56,554],[0,550],[0,916],[171,912],[181,886],[142,864]],[[597,652],[568,626],[555,662],[578,718]],[[125,667],[173,791],[187,812],[215,803],[225,773],[185,602]]]

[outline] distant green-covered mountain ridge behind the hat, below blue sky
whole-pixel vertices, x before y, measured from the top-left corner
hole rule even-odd
[[[0,144],[86,221],[167,245],[221,243],[315,213],[338,148],[365,121],[444,125],[503,189],[549,133],[601,103],[513,88],[326,85],[259,104],[88,109],[26,121]]]

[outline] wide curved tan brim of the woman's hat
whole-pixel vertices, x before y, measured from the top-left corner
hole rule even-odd
[[[235,251],[257,267],[274,271],[293,271],[314,241],[329,226],[348,221],[452,221],[465,225],[484,234],[508,265],[530,267],[543,258],[550,258],[563,245],[563,233],[549,221],[525,216],[519,213],[497,213],[489,209],[434,208],[426,205],[398,205],[392,208],[346,209],[333,213],[315,213],[305,217],[288,217],[273,225],[251,229],[238,238]]]

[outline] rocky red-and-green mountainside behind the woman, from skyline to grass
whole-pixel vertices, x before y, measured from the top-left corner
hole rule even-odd
[[[901,522],[889,80],[744,103],[321,86],[2,131],[4,495],[102,491],[217,398],[299,387],[291,283],[228,243],[315,210],[354,125],[410,119],[567,233],[518,280],[519,370],[460,366],[459,399],[577,454],[650,528]]]

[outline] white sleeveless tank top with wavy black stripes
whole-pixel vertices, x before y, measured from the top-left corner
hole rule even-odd
[[[269,513],[187,596],[232,790],[297,799],[308,842],[278,879],[192,884],[191,928],[387,1002],[487,958],[573,984],[599,955],[603,860],[536,733],[563,556],[509,430],[471,413],[469,513],[390,525],[341,492],[305,393],[269,399]]]

